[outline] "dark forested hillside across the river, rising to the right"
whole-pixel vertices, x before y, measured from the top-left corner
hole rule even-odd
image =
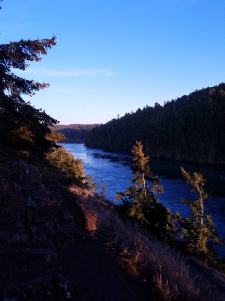
[[[130,150],[136,140],[152,157],[225,164],[225,83],[112,119],[85,144]]]

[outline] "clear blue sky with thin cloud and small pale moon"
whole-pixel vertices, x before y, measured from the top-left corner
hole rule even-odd
[[[105,123],[225,81],[225,0],[3,0],[0,44],[56,36],[16,75],[60,124]]]

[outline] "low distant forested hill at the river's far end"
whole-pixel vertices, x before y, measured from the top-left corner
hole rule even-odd
[[[56,124],[53,130],[56,133],[62,133],[68,141],[83,142],[86,134],[97,125],[99,124]]]

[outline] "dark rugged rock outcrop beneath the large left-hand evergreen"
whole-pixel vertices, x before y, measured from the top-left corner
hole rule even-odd
[[[31,165],[0,166],[1,300],[73,299],[61,249],[73,241],[76,224],[60,206],[61,194],[46,189]]]

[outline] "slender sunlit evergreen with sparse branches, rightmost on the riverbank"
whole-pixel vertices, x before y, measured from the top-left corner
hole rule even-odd
[[[177,219],[181,228],[180,237],[188,242],[188,250],[197,255],[209,254],[208,243],[221,243],[221,239],[217,236],[217,230],[210,214],[205,214],[204,201],[208,198],[203,186],[205,179],[198,173],[190,175],[181,167],[182,175],[186,184],[191,186],[191,192],[197,193],[197,198],[187,200],[182,198],[184,204],[188,204],[191,213],[187,218],[181,217],[177,211]]]

